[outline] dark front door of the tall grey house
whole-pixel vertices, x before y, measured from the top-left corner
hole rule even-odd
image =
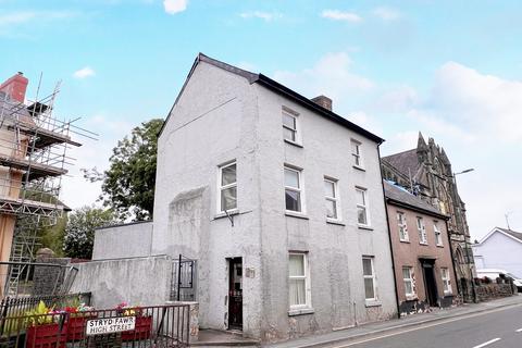
[[[228,330],[243,330],[243,260],[228,259]]]

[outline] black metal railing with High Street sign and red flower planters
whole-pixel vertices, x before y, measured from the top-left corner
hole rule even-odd
[[[188,347],[190,307],[54,312],[5,318],[0,348]]]

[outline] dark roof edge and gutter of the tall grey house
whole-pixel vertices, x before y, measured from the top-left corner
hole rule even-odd
[[[333,121],[333,122],[335,122],[335,123],[337,123],[341,126],[345,126],[345,127],[347,127],[347,128],[349,128],[349,129],[351,129],[351,130],[371,139],[371,140],[377,142],[377,144],[382,144],[384,141],[383,138],[376,136],[375,134],[362,128],[361,126],[358,126],[355,123],[351,123],[350,121],[348,121],[345,117],[336,114],[335,112],[319,105],[318,103],[313,102],[312,100],[308,99],[307,97],[303,97],[303,96],[299,95],[298,92],[296,92],[296,91],[291,90],[290,88],[273,80],[272,78],[270,78],[270,77],[268,77],[263,74],[256,74],[256,73],[248,72],[246,70],[239,69],[237,66],[234,66],[234,65],[221,62],[219,60],[215,60],[213,58],[210,58],[208,55],[204,55],[203,53],[199,53],[198,57],[196,58],[196,61],[194,62],[192,67],[190,69],[190,72],[187,76],[187,79],[185,80],[185,84],[182,87],[182,90],[181,90],[176,101],[174,102],[174,105],[177,103],[177,100],[179,99],[179,96],[183,94],[185,85],[190,79],[190,76],[192,75],[192,72],[194,72],[194,70],[196,69],[196,66],[198,65],[199,62],[206,62],[206,63],[212,64],[216,67],[223,69],[227,72],[231,72],[233,74],[243,76],[246,79],[248,79],[248,82],[250,84],[254,84],[254,83],[260,84],[260,85],[269,88],[273,92],[282,95],[286,98],[289,98],[289,99],[294,100],[295,102],[303,105],[304,108],[314,111],[315,113],[320,114],[321,116],[324,116],[325,119],[328,119],[328,120],[331,120],[331,121]],[[174,107],[172,107],[172,109],[174,109]],[[169,117],[172,113],[172,109],[171,109],[171,112],[169,113],[169,116],[166,117],[166,120],[163,124],[163,127],[160,130],[160,135],[163,132],[163,128],[164,128],[166,122],[169,122]]]

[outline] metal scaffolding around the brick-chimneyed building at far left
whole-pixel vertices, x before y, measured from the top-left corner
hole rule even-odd
[[[59,197],[62,176],[75,161],[67,149],[82,146],[72,137],[96,137],[73,125],[77,120],[53,116],[59,87],[40,100],[37,91],[26,103],[0,94],[0,217],[15,219],[9,261],[16,262],[9,268],[4,295],[18,295],[21,278],[28,276],[24,263],[35,261],[38,228],[55,224],[69,209]]]

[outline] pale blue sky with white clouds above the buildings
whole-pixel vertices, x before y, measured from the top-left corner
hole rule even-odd
[[[72,208],[96,202],[117,140],[165,117],[198,52],[263,73],[382,136],[419,132],[446,150],[473,238],[522,232],[522,2],[0,0],[0,79],[34,97],[61,80],[54,114],[96,132],[63,179]]]

